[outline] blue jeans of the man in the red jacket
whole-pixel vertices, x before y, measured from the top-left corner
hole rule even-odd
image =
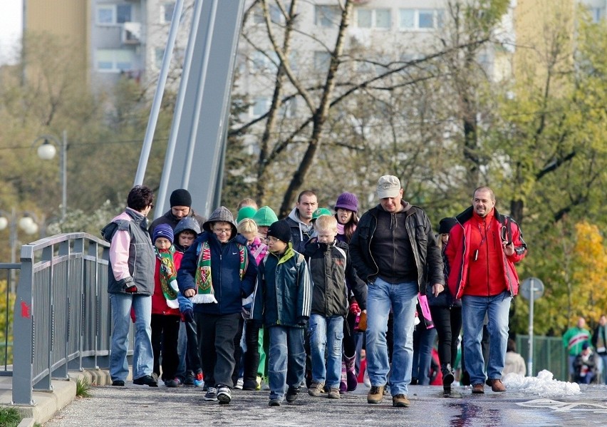
[[[462,297],[464,324],[464,357],[470,384],[484,384],[489,379],[502,379],[506,346],[508,344],[508,312],[512,296],[504,291],[493,297]],[[485,313],[489,315],[489,364],[487,376],[481,350],[482,326]]]

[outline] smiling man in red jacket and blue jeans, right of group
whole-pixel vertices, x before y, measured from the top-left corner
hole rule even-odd
[[[474,190],[472,206],[457,215],[445,249],[451,267],[449,289],[462,299],[464,357],[475,394],[484,393],[486,379],[493,391],[506,391],[502,370],[508,313],[512,297],[519,292],[514,263],[527,252],[519,225],[494,207],[495,195],[489,187]],[[480,344],[485,313],[489,316],[487,375]]]

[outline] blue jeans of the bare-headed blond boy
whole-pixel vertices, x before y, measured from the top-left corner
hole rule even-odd
[[[339,387],[341,381],[341,342],[343,340],[343,316],[324,317],[312,314],[308,321],[310,350],[312,354],[312,381]],[[325,351],[327,364],[325,368]]]

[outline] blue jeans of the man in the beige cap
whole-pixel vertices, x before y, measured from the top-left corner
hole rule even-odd
[[[388,382],[388,331],[390,307],[394,314],[394,350],[390,393],[407,394],[413,366],[413,327],[417,304],[417,282],[390,284],[380,279],[369,284],[367,295],[367,371],[372,386]]]

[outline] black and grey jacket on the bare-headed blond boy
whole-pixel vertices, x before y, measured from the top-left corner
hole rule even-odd
[[[312,277],[312,313],[321,316],[346,316],[350,307],[350,289],[346,281],[353,284],[352,292],[361,310],[367,308],[367,286],[356,276],[348,245],[333,242],[310,242],[304,255]],[[344,257],[345,255],[345,257]]]

